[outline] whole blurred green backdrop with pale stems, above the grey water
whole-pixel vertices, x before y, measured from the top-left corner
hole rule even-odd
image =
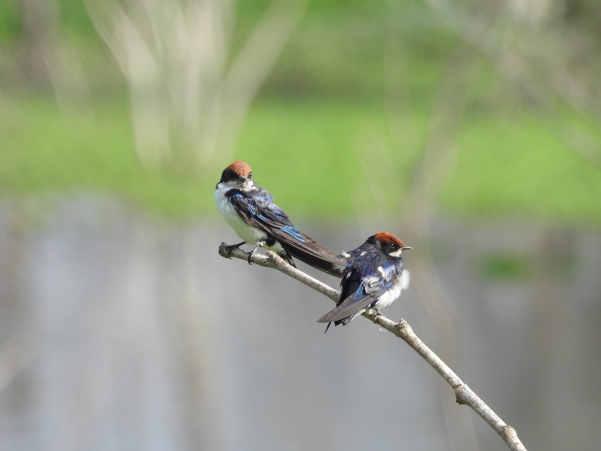
[[[243,159],[300,215],[402,210],[435,179],[452,215],[601,224],[596,2],[193,9],[2,2],[2,189],[204,216]]]

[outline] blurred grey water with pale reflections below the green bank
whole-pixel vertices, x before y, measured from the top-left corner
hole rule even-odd
[[[324,335],[331,301],[219,257],[236,241],[221,223],[43,204],[0,203],[1,450],[507,449],[403,342],[361,318]],[[394,232],[304,229],[335,250]],[[529,449],[597,449],[601,235],[441,220],[428,239],[432,262],[407,253],[414,283],[386,316]],[[507,253],[523,274],[483,272]]]

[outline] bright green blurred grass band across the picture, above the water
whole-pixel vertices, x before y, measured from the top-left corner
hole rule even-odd
[[[263,97],[249,111],[235,158],[249,162],[257,182],[295,216],[349,217],[355,214],[353,196],[365,198],[374,183],[386,183],[365,179],[358,156],[359,145],[388,134],[384,111],[378,102],[364,100]],[[427,111],[406,114],[394,133],[419,137]],[[601,225],[601,171],[570,150],[556,126],[567,120],[566,112],[468,114],[459,132],[457,166],[439,200],[442,209]],[[52,97],[19,97],[10,114],[3,114],[1,139],[4,192],[99,190],[177,216],[215,215],[213,188],[230,163],[222,161],[200,177],[142,170],[121,98],[79,111],[59,109]],[[391,156],[407,176],[418,141],[407,139],[406,148],[401,143]],[[389,201],[396,208],[406,193],[402,181],[391,185]],[[365,214],[374,208],[361,206]]]

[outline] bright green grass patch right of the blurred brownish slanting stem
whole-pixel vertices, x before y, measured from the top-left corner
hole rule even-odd
[[[486,216],[519,213],[599,224],[601,168],[573,150],[563,133],[569,120],[576,118],[567,112],[528,111],[466,120],[444,205]]]

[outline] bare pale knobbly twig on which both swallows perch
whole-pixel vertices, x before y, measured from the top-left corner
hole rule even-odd
[[[221,246],[219,246],[219,255],[228,258],[226,247],[227,244],[221,243]],[[248,254],[243,250],[234,249],[231,251],[229,257],[236,257],[237,259],[246,260],[248,259]],[[335,290],[325,283],[320,282],[316,278],[299,271],[299,269],[293,268],[284,262],[281,257],[271,251],[267,252],[267,256],[255,253],[254,256],[252,256],[251,261],[259,266],[277,269],[278,271],[289,275],[299,282],[304,283],[308,287],[319,291],[323,295],[328,296],[328,298],[332,299],[333,301],[338,301],[338,297],[340,296],[340,292],[338,290]],[[370,321],[373,321],[377,325],[380,325],[387,331],[395,334],[395,336],[399,337],[400,339],[403,339],[407,345],[411,346],[411,348],[421,355],[421,357],[423,357],[424,360],[426,360],[430,366],[432,366],[436,372],[438,372],[439,375],[441,375],[445,381],[451,385],[451,388],[453,388],[453,391],[455,392],[457,402],[459,404],[468,405],[478,415],[480,415],[484,421],[489,423],[490,427],[495,429],[496,433],[501,436],[505,443],[507,443],[509,449],[513,451],[526,451],[526,447],[523,446],[519,437],[517,437],[516,430],[507,425],[507,423],[505,423],[490,407],[488,407],[486,403],[484,403],[484,401],[481,400],[480,397],[468,387],[468,385],[464,384],[459,376],[457,376],[453,370],[451,370],[450,367],[448,367],[447,364],[444,363],[444,361],[442,361],[441,358],[432,351],[432,349],[428,348],[428,346],[426,346],[424,342],[415,335],[411,326],[404,319],[401,318],[399,322],[394,322],[391,319],[383,316],[381,313],[377,315],[364,313],[363,316],[368,318]]]

